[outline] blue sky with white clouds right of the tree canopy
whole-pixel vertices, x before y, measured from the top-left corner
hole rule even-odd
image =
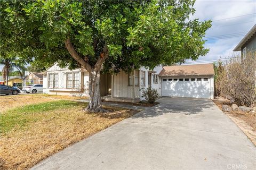
[[[233,57],[235,46],[256,24],[256,0],[253,1],[206,1],[197,0],[196,12],[191,19],[212,20],[212,27],[206,31],[204,45],[210,51],[197,61],[187,64],[210,63],[219,58]]]

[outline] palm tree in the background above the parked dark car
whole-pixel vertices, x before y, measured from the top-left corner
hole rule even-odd
[[[14,68],[19,71],[22,79],[24,77],[26,67],[23,66],[22,64],[15,63],[14,61],[15,61],[15,58],[5,58],[0,60],[0,64],[4,65],[2,74],[3,74],[4,82],[6,82],[6,85],[8,85],[9,73],[12,72]]]

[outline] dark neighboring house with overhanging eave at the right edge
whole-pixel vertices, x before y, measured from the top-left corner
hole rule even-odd
[[[237,44],[234,52],[241,51],[241,56],[246,57],[246,52],[256,51],[256,24],[252,29],[244,36],[244,38]]]

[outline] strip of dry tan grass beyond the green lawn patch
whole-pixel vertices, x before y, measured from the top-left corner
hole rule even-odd
[[[16,96],[10,95],[10,96],[0,96],[0,98],[1,98],[0,113],[13,107],[43,103],[45,101],[78,99],[78,97],[73,97],[73,96],[57,96],[57,95],[45,95],[45,94],[29,94],[29,95],[16,95]]]

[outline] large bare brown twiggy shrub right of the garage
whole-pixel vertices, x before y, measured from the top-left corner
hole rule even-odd
[[[221,91],[239,105],[252,106],[256,103],[256,53],[248,52],[246,57],[232,58],[223,66]]]

